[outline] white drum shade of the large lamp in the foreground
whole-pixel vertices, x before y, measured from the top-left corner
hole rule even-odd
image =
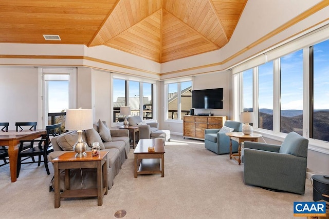
[[[88,130],[93,128],[92,109],[67,109],[65,118],[66,130]]]

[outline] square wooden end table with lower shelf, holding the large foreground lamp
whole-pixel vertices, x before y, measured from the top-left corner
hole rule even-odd
[[[100,151],[99,156],[93,156],[91,151],[86,151],[87,156],[76,157],[75,152],[66,152],[52,160],[54,164],[54,192],[55,208],[61,206],[61,198],[68,197],[97,197],[98,205],[103,205],[103,196],[107,194],[107,153]],[[70,189],[70,169],[96,168],[97,188],[95,189]],[[60,193],[60,170],[65,169],[65,188]]]

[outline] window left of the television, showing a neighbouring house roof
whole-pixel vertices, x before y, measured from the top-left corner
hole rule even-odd
[[[167,119],[182,120],[192,107],[192,82],[167,84]]]

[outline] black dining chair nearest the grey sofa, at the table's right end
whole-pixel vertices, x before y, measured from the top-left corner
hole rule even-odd
[[[28,157],[39,156],[39,160],[38,160],[38,167],[39,167],[41,164],[41,161],[42,161],[41,157],[43,156],[43,162],[45,164],[47,174],[48,175],[50,174],[49,168],[48,168],[48,154],[53,151],[50,140],[51,140],[51,137],[61,134],[61,126],[62,126],[62,123],[46,126],[46,134],[42,136],[41,140],[33,140],[33,142],[39,142],[38,147],[33,147],[33,148],[26,149],[26,150],[22,150],[23,144],[20,145],[19,155],[17,158],[17,177],[19,177],[22,164],[37,163],[34,160],[32,160],[32,162],[22,163],[22,161],[26,160],[26,159],[22,160],[23,157],[28,158]]]

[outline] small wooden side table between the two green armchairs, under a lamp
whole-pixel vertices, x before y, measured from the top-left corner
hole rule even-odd
[[[241,165],[241,143],[245,141],[249,142],[258,142],[258,138],[261,137],[261,134],[252,133],[252,134],[244,134],[242,132],[227,132],[225,133],[230,137],[230,160],[234,158],[239,165]],[[239,148],[237,149],[237,154],[232,154],[232,140],[239,144]]]

